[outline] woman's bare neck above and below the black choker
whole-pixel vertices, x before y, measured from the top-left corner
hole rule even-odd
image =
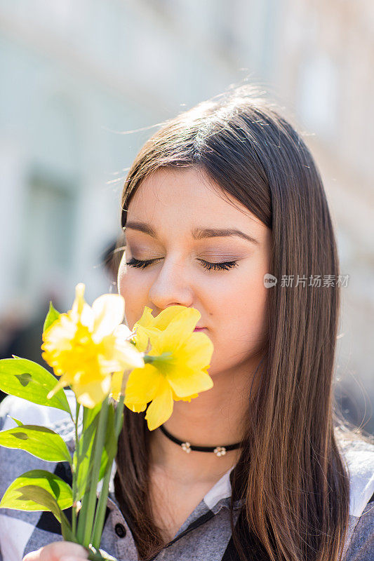
[[[190,403],[177,401],[173,414],[164,424],[176,438],[195,446],[225,446],[240,442],[245,429],[251,376],[236,369],[212,375],[214,386]],[[253,384],[254,385],[254,384]],[[236,464],[241,450],[225,456],[192,451],[187,454],[156,429],[151,433],[150,465],[183,480],[217,480]]]

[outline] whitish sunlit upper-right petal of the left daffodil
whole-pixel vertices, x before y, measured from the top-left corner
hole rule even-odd
[[[95,343],[99,343],[122,322],[125,300],[119,294],[105,294],[95,299],[92,310],[94,314],[92,338]]]

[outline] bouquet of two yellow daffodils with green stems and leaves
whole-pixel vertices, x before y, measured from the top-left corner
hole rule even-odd
[[[0,433],[0,445],[25,450],[46,461],[68,462],[72,486],[43,470],[16,478],[6,489],[0,508],[51,511],[62,536],[100,553],[109,479],[123,425],[123,407],[144,412],[149,430],[161,426],[175,400],[196,398],[213,386],[208,367],[213,344],[194,332],[200,313],[170,306],[158,316],[145,306],[133,331],[123,325],[125,302],[120,295],[98,297],[89,306],[84,284],[76,286],[72,309],[58,313],[50,304],[44,323],[42,356],[56,378],[25,358],[0,360],[0,389],[37,405],[63,410],[75,427],[71,456],[60,435],[44,426],[22,424]],[[75,411],[64,388],[72,388]],[[98,483],[102,482],[98,497]],[[64,511],[72,508],[70,523]]]

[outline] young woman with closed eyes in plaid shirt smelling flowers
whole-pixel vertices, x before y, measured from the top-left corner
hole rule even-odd
[[[338,256],[298,133],[251,88],[230,90],[145,144],[122,210],[128,326],[144,306],[198,309],[214,386],[153,432],[126,410],[102,549],[123,561],[373,559],[374,446],[335,412]],[[14,399],[6,407],[18,417]],[[87,557],[46,513],[22,524],[25,561]],[[3,550],[9,540],[0,530]]]

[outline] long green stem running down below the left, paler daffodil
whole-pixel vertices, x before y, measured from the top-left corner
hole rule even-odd
[[[100,473],[100,464],[102,457],[102,450],[105,442],[105,432],[107,428],[107,416],[108,416],[108,398],[102,402],[102,406],[99,414],[99,422],[97,432],[95,434],[94,450],[93,450],[93,468],[91,472],[91,482],[88,487],[88,498],[85,503],[85,510],[79,514],[79,519],[83,515],[84,520],[82,522],[84,526],[83,541],[81,542],[83,546],[88,547],[90,545],[91,531],[93,527],[93,517],[95,515],[95,505],[96,505],[96,489],[98,486],[98,478]],[[85,494],[86,495],[86,494]],[[84,496],[86,499],[86,496]],[[83,510],[83,506],[82,506]],[[81,523],[81,520],[79,520]]]

